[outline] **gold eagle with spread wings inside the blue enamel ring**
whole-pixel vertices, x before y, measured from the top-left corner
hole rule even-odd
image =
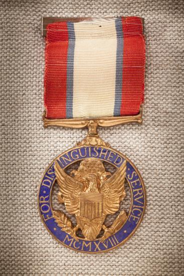
[[[73,232],[76,237],[76,231],[80,228],[85,239],[94,240],[103,229],[103,241],[121,227],[126,218],[124,210],[111,227],[107,228],[104,220],[106,215],[118,211],[119,204],[126,195],[126,160],[113,175],[105,171],[100,160],[93,158],[81,161],[78,170],[72,171],[71,176],[56,161],[55,173],[60,187],[58,200],[65,204],[67,212],[75,215],[77,220],[77,225],[73,228],[71,222],[68,223],[72,228],[70,234]]]

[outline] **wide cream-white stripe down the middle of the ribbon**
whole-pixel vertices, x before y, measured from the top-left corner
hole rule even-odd
[[[116,85],[115,21],[74,24],[73,117],[113,116]]]

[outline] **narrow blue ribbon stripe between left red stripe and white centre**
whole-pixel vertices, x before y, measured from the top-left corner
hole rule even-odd
[[[73,76],[74,76],[75,31],[74,31],[73,23],[68,22],[67,27],[68,27],[68,54],[67,54],[66,117],[73,118]]]

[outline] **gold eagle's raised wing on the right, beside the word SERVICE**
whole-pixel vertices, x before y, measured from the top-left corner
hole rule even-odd
[[[101,185],[104,194],[103,213],[113,214],[118,211],[120,201],[126,195],[124,181],[126,176],[126,160],[121,167]]]

